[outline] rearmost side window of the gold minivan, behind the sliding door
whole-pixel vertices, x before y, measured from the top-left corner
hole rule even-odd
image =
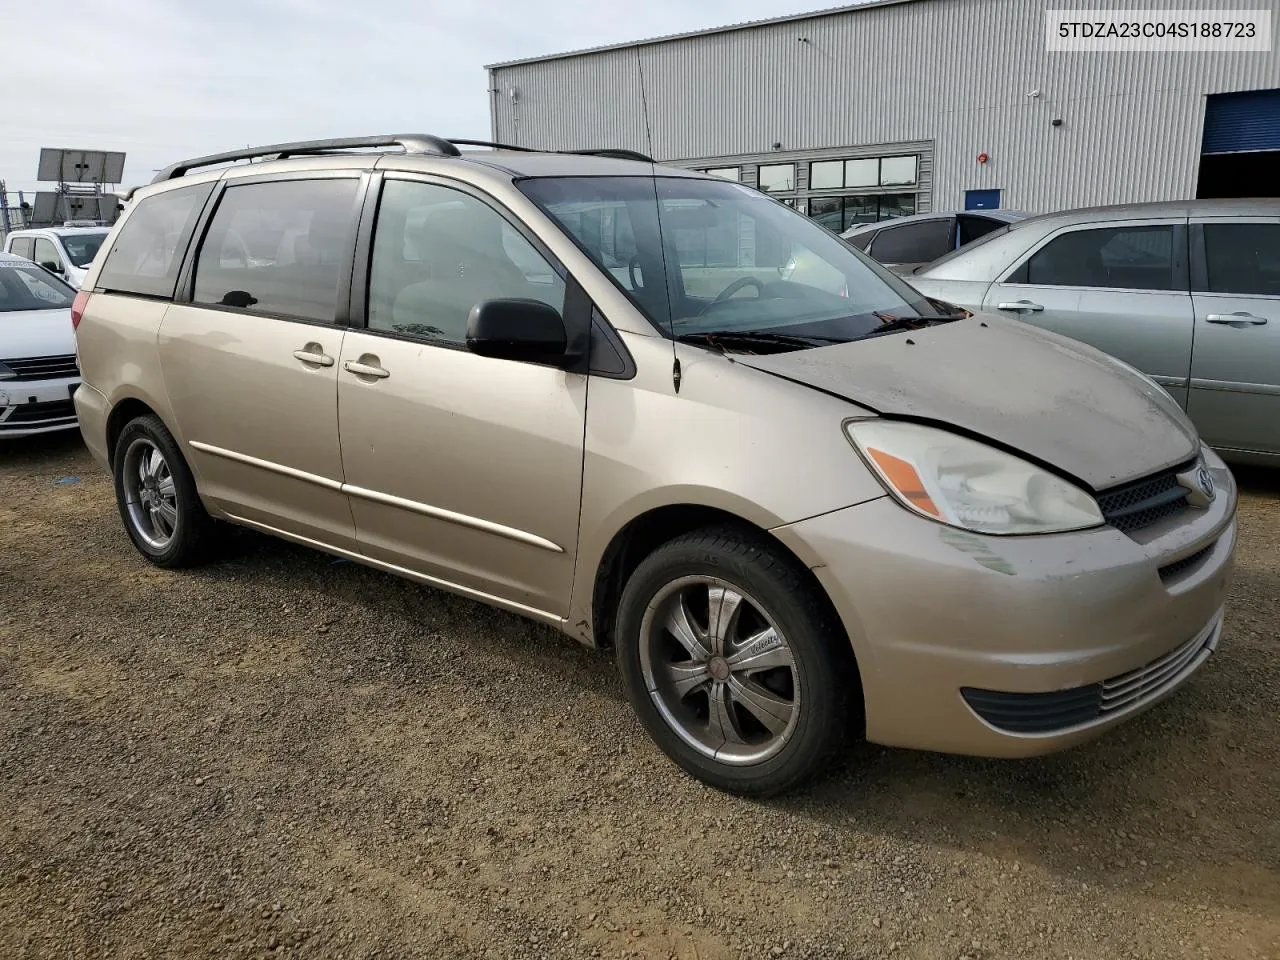
[[[212,191],[212,183],[197,183],[140,200],[106,255],[99,289],[173,297],[196,219]]]

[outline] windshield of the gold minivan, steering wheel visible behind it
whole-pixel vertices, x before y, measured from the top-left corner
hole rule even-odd
[[[563,177],[520,188],[675,337],[856,339],[933,317],[909,285],[759,191],[677,177]]]

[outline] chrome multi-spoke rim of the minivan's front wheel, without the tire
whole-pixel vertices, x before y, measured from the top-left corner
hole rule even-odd
[[[759,602],[718,577],[680,577],[653,596],[640,671],[667,724],[719,763],[767,760],[795,732],[801,678],[791,646]]]

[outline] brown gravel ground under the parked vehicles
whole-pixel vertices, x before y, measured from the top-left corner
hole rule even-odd
[[[1280,475],[1243,480],[1176,698],[751,803],[669,764],[605,657],[247,532],[156,570],[78,438],[10,443],[0,957],[1280,956]]]

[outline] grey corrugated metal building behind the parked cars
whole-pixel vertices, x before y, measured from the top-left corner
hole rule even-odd
[[[1044,8],[1042,0],[872,0],[494,64],[493,136],[736,166],[751,184],[762,163],[795,164],[791,189],[776,192],[806,212],[814,198],[829,206],[838,196],[860,204],[886,193],[900,197],[888,215],[908,196],[920,211],[964,207],[966,191],[983,189],[1000,189],[1004,207],[1044,211],[1194,197],[1210,95],[1280,88],[1275,44],[1270,52],[1048,52]],[[918,157],[909,188],[867,184],[867,165],[856,168],[856,187],[809,184],[812,160],[904,155]],[[835,166],[820,169],[836,175]]]

